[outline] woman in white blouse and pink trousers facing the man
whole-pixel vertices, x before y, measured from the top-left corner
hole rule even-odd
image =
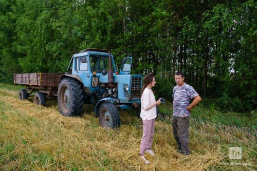
[[[142,97],[141,97],[141,113],[140,117],[143,120],[143,136],[140,144],[140,157],[145,162],[149,162],[144,158],[144,153],[149,153],[155,156],[151,150],[153,136],[154,136],[154,124],[156,118],[156,105],[160,105],[160,99],[156,102],[152,87],[156,84],[153,74],[145,75],[143,79]],[[146,149],[146,150],[145,150]]]

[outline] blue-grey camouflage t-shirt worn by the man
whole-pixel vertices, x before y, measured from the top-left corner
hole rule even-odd
[[[190,99],[198,96],[198,93],[194,88],[186,83],[179,87],[176,85],[173,88],[173,116],[175,117],[189,117],[190,112],[188,111],[188,106],[190,104]]]

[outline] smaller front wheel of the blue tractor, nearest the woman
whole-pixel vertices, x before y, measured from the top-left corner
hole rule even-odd
[[[116,128],[120,126],[120,115],[113,103],[105,102],[101,104],[98,116],[102,127]]]

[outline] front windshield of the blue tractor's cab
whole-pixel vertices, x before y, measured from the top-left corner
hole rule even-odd
[[[109,70],[109,56],[108,55],[90,54],[89,61],[90,61],[91,72],[96,71],[98,73],[102,73],[103,69],[105,69],[106,71]],[[113,61],[111,61],[111,64],[112,64],[112,69],[114,70]]]

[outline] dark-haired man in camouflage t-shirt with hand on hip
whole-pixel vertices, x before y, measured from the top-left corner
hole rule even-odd
[[[191,109],[195,107],[201,98],[194,88],[184,82],[184,75],[182,72],[175,73],[175,81],[177,85],[173,89],[173,136],[177,141],[178,153],[189,155],[190,149],[188,147],[189,135],[189,117]],[[193,99],[190,104],[190,99]]]

